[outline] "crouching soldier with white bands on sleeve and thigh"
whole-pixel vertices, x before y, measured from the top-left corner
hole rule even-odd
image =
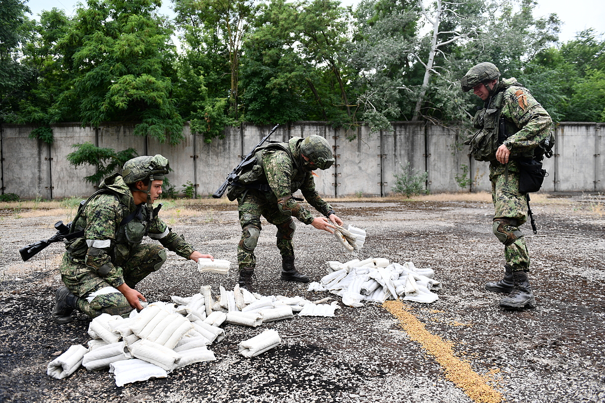
[[[195,251],[157,216],[159,208],[152,204],[162,193],[166,173],[168,160],[162,155],[133,158],[124,164],[122,175],[105,178],[80,206],[70,231],[82,231],[82,236],[65,242],[60,265],[65,286],[56,293],[54,321],[70,322],[74,309],[93,318],[142,309],[145,297],[134,287],[162,267],[165,247],[195,262],[214,259]],[[145,235],[163,246],[141,243]]]

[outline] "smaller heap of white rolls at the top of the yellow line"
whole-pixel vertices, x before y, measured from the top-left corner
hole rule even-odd
[[[433,279],[434,271],[416,268],[412,262],[400,265],[370,258],[328,265],[328,274],[320,282],[310,283],[308,291],[332,292],[342,297],[344,305],[358,308],[364,306],[361,301],[383,303],[390,299],[431,303],[439,298],[433,292],[441,289]]]

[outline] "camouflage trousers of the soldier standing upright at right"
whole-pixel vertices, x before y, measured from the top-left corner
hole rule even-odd
[[[505,173],[490,175],[492,184],[492,201],[494,202],[494,220],[498,218],[512,218],[517,220],[517,226],[508,225],[507,230],[518,230],[525,224],[528,216],[528,204],[525,193],[519,192],[519,174],[509,172],[508,180]],[[514,242],[504,247],[506,263],[511,265],[512,271],[529,270],[529,253],[525,237],[520,236]]]

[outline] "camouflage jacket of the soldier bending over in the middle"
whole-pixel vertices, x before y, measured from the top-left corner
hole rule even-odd
[[[301,137],[290,138],[288,143],[273,143],[260,147],[255,158],[257,163],[249,175],[241,175],[246,184],[268,184],[270,190],[258,192],[267,201],[275,203],[279,210],[297,218],[304,224],[311,224],[313,215],[293,199],[293,193],[300,190],[302,196],[319,213],[327,216],[332,206],[327,204],[315,190],[312,173],[304,169],[301,162]]]

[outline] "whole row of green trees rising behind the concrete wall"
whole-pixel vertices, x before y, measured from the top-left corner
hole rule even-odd
[[[160,0],[88,0],[39,22],[25,0],[0,5],[0,123],[36,124],[49,143],[67,121],[132,122],[170,144],[187,120],[206,142],[243,121],[467,122],[481,102],[459,79],[483,61],[555,121],[605,116],[605,40],[589,29],[558,44],[561,21],[535,17],[534,0],[174,0],[174,21]]]

